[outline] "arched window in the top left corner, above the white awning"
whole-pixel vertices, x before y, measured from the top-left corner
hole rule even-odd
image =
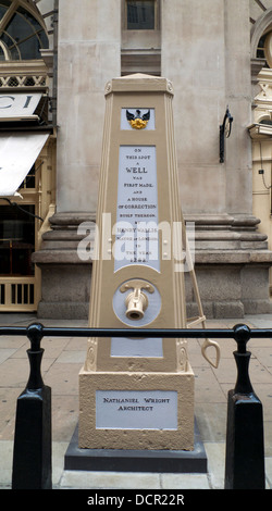
[[[36,8],[23,0],[0,0],[0,60],[40,59],[48,37]]]

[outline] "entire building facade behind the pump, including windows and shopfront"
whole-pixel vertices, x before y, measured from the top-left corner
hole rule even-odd
[[[146,73],[174,89],[181,205],[206,315],[270,312],[272,0],[75,3],[0,0],[0,153],[18,134],[46,140],[38,154],[29,147],[18,195],[0,188],[0,311],[87,317],[104,89]],[[10,97],[25,105],[38,94],[33,119],[12,119]]]

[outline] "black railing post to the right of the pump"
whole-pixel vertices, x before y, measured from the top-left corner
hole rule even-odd
[[[246,345],[250,329],[246,325],[234,327],[237,351],[237,381],[228,391],[225,489],[264,489],[264,447],[262,403],[256,396],[249,374],[250,352]]]

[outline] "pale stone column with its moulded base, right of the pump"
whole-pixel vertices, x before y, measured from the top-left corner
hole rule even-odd
[[[162,2],[162,74],[175,89],[181,202],[185,220],[196,226],[207,316],[271,310],[272,258],[252,214],[249,37],[247,0]],[[227,105],[234,122],[220,163],[219,127]],[[187,292],[194,314],[189,286]]]

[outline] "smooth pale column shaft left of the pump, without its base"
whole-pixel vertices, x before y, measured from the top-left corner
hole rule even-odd
[[[120,75],[120,0],[60,0],[58,211],[96,211],[107,80]]]

